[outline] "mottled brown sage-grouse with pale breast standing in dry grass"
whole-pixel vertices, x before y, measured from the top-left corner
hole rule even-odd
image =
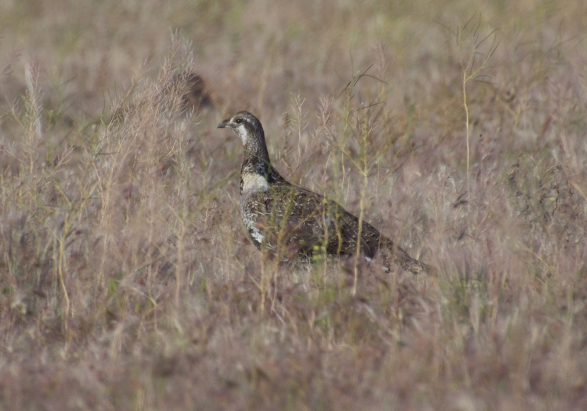
[[[340,204],[281,177],[271,166],[263,127],[253,114],[238,112],[222,120],[218,128],[231,129],[245,146],[241,217],[252,242],[262,252],[282,252],[281,257],[288,258],[320,252],[356,255],[359,251],[371,260],[381,251],[385,264],[394,262],[414,273],[433,270],[411,258],[366,221],[359,223],[359,218]]]

